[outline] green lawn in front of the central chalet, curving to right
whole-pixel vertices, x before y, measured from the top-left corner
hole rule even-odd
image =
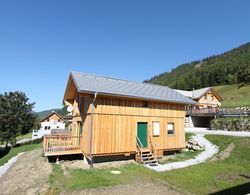
[[[250,138],[207,135],[207,139],[224,150],[231,142],[235,144],[230,157],[225,160],[209,161],[188,168],[157,173],[139,164],[130,164],[110,173],[111,169],[69,169],[64,175],[60,165],[53,164],[49,183],[51,192],[75,191],[126,184],[139,179],[163,182],[180,192],[208,194],[249,182]],[[114,170],[114,169],[112,169]]]

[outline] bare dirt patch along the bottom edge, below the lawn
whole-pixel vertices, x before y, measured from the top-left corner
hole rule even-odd
[[[87,189],[75,192],[63,192],[61,195],[109,195],[109,194],[119,194],[119,195],[158,195],[158,194],[168,194],[168,195],[178,195],[180,193],[168,188],[160,182],[153,181],[143,181],[126,185],[117,185],[112,187],[103,187],[98,189]]]

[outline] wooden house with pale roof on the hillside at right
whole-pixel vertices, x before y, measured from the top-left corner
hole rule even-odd
[[[194,109],[217,108],[221,105],[222,98],[215,90],[213,90],[212,87],[206,87],[193,91],[175,89],[175,91],[197,102],[192,107]]]

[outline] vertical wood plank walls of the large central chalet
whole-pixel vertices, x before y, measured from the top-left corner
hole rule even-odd
[[[77,122],[83,121],[83,152],[88,155],[93,95],[80,96],[86,97],[88,109],[80,116],[78,98],[75,98],[72,133],[77,135]],[[147,103],[148,107],[143,108],[142,100],[97,96],[92,139],[93,155],[136,152],[137,122],[148,123],[148,145],[151,136],[157,150],[185,147],[185,105],[151,101]],[[156,137],[153,136],[154,121],[160,122],[160,135]],[[167,134],[169,122],[175,124],[174,135]]]

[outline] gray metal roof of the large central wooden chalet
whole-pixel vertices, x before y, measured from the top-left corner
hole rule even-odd
[[[194,104],[191,99],[169,87],[139,83],[105,76],[71,72],[79,92],[131,97],[145,100],[158,100],[182,104]]]

